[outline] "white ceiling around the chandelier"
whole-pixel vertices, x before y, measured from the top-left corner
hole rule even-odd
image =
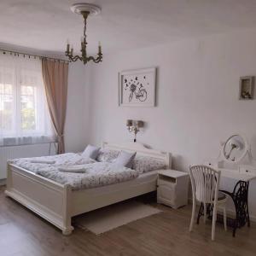
[[[1,0],[0,42],[63,52],[79,50],[83,19],[69,7],[81,1]],[[165,44],[256,26],[256,0],[95,0],[102,14],[88,20],[90,52]]]

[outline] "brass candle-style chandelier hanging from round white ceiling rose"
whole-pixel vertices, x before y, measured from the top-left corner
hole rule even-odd
[[[73,55],[73,47],[70,48],[69,43],[67,42],[67,50],[65,55],[68,57],[70,61],[83,61],[84,65],[89,61],[94,61],[95,63],[99,63],[102,61],[102,46],[99,42],[98,53],[96,56],[87,56],[86,45],[88,44],[86,41],[86,23],[89,15],[98,15],[101,12],[101,9],[90,3],[74,3],[70,8],[73,13],[78,15],[83,15],[84,17],[84,35],[81,38],[81,55]]]

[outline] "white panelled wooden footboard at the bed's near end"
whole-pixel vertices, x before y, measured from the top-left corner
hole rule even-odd
[[[54,224],[64,235],[73,231],[68,205],[71,193],[66,185],[55,183],[18,166],[8,165],[5,194]]]

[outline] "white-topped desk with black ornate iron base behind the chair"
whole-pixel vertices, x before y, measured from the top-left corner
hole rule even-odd
[[[245,224],[250,226],[250,216],[248,212],[248,189],[249,182],[256,178],[256,172],[239,172],[238,170],[218,168],[221,172],[220,177],[228,177],[236,180],[233,191],[221,190],[230,195],[236,207],[236,218],[233,224],[233,236],[236,235],[236,229]]]

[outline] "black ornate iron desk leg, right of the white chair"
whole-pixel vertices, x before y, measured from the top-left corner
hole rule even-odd
[[[236,218],[233,224],[233,236],[236,236],[236,229],[241,228],[245,224],[250,226],[250,216],[248,212],[248,189],[249,182],[238,181],[232,193],[221,190],[225,194],[230,195],[236,207]]]

